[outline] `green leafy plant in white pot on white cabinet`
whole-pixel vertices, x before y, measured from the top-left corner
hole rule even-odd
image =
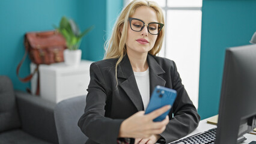
[[[66,39],[67,49],[64,50],[64,62],[67,65],[79,65],[81,61],[82,51],[79,49],[82,37],[87,34],[94,26],[80,32],[78,25],[72,19],[63,16],[59,27],[54,26],[59,33]]]

